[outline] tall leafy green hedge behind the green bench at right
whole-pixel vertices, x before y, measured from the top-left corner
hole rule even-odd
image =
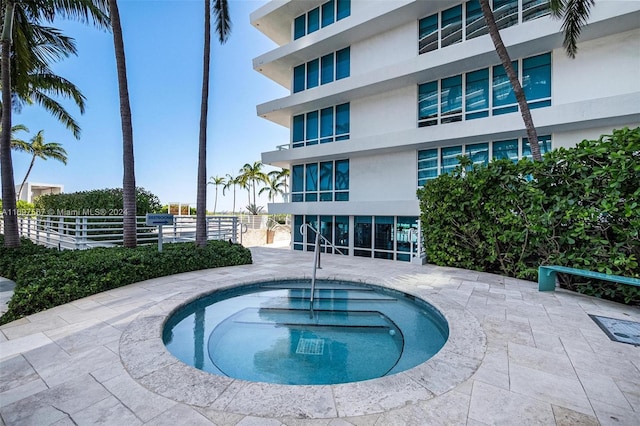
[[[418,190],[428,262],[529,280],[540,264],[640,278],[640,127],[542,162],[460,161]],[[562,284],[640,302],[632,286],[575,277]]]

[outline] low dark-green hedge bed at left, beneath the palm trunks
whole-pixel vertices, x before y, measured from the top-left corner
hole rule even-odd
[[[165,244],[162,253],[153,245],[57,251],[23,243],[0,248],[0,276],[16,282],[0,324],[138,281],[252,262],[248,249],[226,241]]]

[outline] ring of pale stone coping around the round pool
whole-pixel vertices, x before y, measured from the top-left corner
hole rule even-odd
[[[275,273],[261,279],[225,277],[207,289],[180,292],[143,311],[120,338],[120,359],[147,389],[196,407],[261,417],[325,419],[378,414],[440,396],[469,379],[480,366],[487,339],[476,317],[425,283],[411,291],[401,283],[345,273],[322,279],[390,288],[433,305],[449,324],[449,338],[426,362],[393,375],[334,385],[279,385],[217,376],[184,364],[162,340],[169,316],[211,293],[263,282],[308,278]]]

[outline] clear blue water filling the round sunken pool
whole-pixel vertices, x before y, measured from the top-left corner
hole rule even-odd
[[[237,379],[293,385],[394,374],[435,355],[449,328],[428,303],[381,287],[270,281],[216,292],[165,324],[169,351],[186,364]]]

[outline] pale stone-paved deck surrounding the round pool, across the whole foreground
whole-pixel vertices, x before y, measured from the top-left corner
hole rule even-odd
[[[196,294],[311,270],[311,253],[252,253],[253,265],[140,282],[0,327],[0,424],[640,424],[640,347],[612,342],[588,316],[640,321],[637,308],[492,274],[342,256],[324,256],[320,277],[380,283],[440,307],[456,336],[446,356],[350,387],[227,379],[202,395],[193,389],[205,373],[158,348],[158,321]],[[263,391],[275,393],[266,400]]]

